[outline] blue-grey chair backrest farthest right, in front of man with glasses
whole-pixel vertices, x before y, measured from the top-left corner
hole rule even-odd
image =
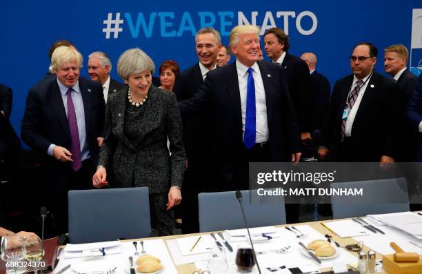
[[[409,211],[408,185],[405,178],[377,179],[359,182],[332,183],[331,188],[362,188],[363,196],[332,196],[334,219]],[[376,202],[382,197],[384,201]]]

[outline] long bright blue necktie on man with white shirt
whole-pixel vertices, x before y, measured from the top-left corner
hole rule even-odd
[[[246,115],[245,115],[245,136],[243,144],[246,148],[252,148],[257,136],[257,119],[255,107],[255,81],[252,68],[248,68],[248,87],[246,88]]]

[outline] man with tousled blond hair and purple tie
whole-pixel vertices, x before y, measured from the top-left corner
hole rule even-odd
[[[103,89],[79,77],[81,66],[75,48],[56,48],[50,66],[55,76],[30,88],[21,124],[23,141],[41,155],[40,185],[58,234],[68,231],[68,190],[91,186],[103,130]]]

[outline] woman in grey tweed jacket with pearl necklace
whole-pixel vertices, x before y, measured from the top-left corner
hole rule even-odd
[[[153,71],[154,63],[139,48],[119,58],[117,72],[129,87],[108,97],[105,139],[92,183],[97,188],[148,186],[153,224],[160,235],[171,235],[170,209],[181,201],[185,162],[182,122],[174,94],[151,85]]]

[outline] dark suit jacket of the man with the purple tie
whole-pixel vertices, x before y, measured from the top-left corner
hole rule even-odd
[[[90,159],[97,165],[104,120],[103,88],[88,79],[79,78],[79,88],[85,112],[86,139]],[[48,77],[30,88],[21,124],[23,141],[41,154],[43,177],[46,183],[62,192],[67,188],[70,163],[62,163],[47,154],[50,144],[70,148],[71,138],[66,110],[61,99],[57,77]]]

